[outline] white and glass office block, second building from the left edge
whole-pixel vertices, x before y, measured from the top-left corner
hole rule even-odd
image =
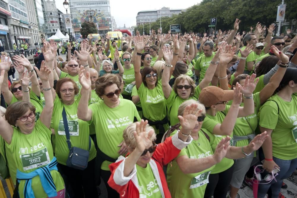
[[[7,17],[12,42],[20,46],[21,43],[30,43],[31,35],[29,33],[29,19],[26,2],[20,0],[9,0],[8,10],[11,16]]]

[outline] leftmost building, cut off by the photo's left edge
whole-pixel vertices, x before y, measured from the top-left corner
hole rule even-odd
[[[12,49],[12,38],[10,37],[7,17],[11,17],[8,9],[8,1],[0,0],[0,44],[5,50]]]

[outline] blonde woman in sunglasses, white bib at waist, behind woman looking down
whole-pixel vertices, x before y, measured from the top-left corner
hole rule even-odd
[[[124,99],[128,99],[128,100],[132,100],[131,93],[132,93],[132,88],[135,85],[134,66],[131,64],[131,58],[132,58],[132,54],[130,54],[128,51],[125,51],[122,54],[122,61],[124,62],[123,80],[125,81],[124,87],[122,89],[122,92],[123,92],[122,96]]]

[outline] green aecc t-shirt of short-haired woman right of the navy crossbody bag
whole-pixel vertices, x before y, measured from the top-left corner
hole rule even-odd
[[[104,101],[91,104],[92,119],[89,124],[94,123],[96,139],[99,149],[114,159],[119,157],[118,145],[124,140],[123,131],[136,120],[140,120],[138,112],[132,101],[119,99],[117,107],[110,108]],[[101,165],[102,170],[109,170],[108,165],[112,162],[104,161]]]

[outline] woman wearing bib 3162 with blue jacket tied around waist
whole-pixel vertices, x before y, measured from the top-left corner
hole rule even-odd
[[[3,66],[3,62],[0,66]],[[50,65],[53,67],[53,65]],[[15,194],[23,197],[64,197],[64,181],[57,170],[53,156],[50,122],[53,112],[53,97],[48,81],[50,69],[41,63],[40,71],[46,105],[35,121],[35,107],[30,102],[15,102],[7,107],[0,117],[0,135],[7,143],[17,167],[18,178]],[[0,85],[3,85],[4,70],[1,70]],[[5,78],[7,79],[7,78]]]

